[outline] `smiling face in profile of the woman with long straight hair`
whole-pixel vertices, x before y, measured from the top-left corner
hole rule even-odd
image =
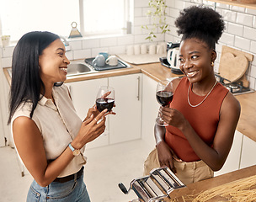
[[[70,61],[65,53],[65,46],[60,39],[54,40],[43,50],[39,57],[39,66],[40,77],[45,85],[53,85],[67,79],[67,65]]]

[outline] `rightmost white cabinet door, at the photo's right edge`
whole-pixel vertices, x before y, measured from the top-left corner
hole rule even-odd
[[[243,136],[243,147],[241,152],[240,168],[253,166],[256,164],[256,142]]]

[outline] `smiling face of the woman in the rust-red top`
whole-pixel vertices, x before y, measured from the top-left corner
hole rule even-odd
[[[210,50],[197,39],[183,40],[179,47],[180,70],[188,77],[189,82],[203,82],[214,76],[211,62],[216,59],[216,51]]]

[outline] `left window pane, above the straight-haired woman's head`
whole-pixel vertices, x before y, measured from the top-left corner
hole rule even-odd
[[[79,22],[79,2],[75,0],[0,0],[0,3],[2,35],[11,35],[11,40],[19,40],[35,30],[68,36],[72,21]]]

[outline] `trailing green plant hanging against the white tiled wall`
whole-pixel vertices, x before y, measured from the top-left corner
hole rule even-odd
[[[145,40],[152,41],[154,38],[157,38],[157,30],[161,30],[161,34],[165,34],[169,32],[168,24],[166,24],[166,13],[165,10],[167,5],[165,0],[149,0],[148,2],[151,10],[147,11],[147,17],[152,19],[152,27],[148,27],[147,25],[142,25],[142,29],[147,29],[148,34]]]

